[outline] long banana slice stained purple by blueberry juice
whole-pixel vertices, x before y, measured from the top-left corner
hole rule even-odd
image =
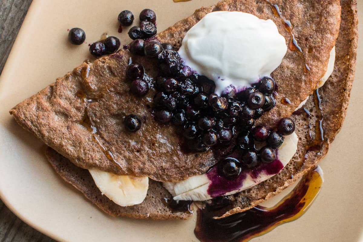
[[[279,173],[294,156],[297,150],[297,143],[298,136],[295,132],[285,136],[284,143],[277,150],[277,159],[273,163],[264,165],[264,169],[261,169],[260,172],[256,172],[256,169],[247,169],[241,172],[234,181],[225,181],[229,183],[230,189],[223,187],[223,185],[221,187],[219,187],[220,185],[216,186],[207,173],[192,176],[179,182],[163,182],[163,185],[174,196],[174,200],[204,201],[213,197],[231,195],[251,188]],[[278,165],[278,169],[271,169],[271,167],[276,165]],[[217,167],[213,167],[209,172],[215,172],[213,169],[217,169]],[[215,173],[217,174],[217,172]],[[221,177],[215,178],[217,180],[220,179],[218,182],[223,181]]]

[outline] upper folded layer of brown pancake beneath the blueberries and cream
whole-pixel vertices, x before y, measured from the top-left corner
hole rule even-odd
[[[221,1],[197,10],[156,38],[179,47],[185,32],[204,15],[226,10],[272,19],[289,45],[291,33],[285,29],[282,18],[274,14],[271,4],[277,4],[281,16],[291,21],[291,31],[302,49],[302,53],[288,50],[281,65],[272,73],[278,85],[276,107],[258,122],[273,127],[281,117],[290,116],[325,73],[329,52],[338,34],[339,1],[299,4],[297,1]],[[158,181],[180,181],[206,172],[216,163],[213,152],[197,155],[183,152],[176,128],[159,124],[152,118],[150,108],[155,90],[151,88],[143,98],[130,95],[125,78],[130,57],[144,66],[149,77],[156,76],[155,62],[120,50],[94,63],[83,63],[10,112],[21,126],[78,167],[98,168],[118,175],[148,176]],[[306,71],[305,65],[310,71]],[[291,104],[280,103],[282,98],[288,98]],[[128,114],[142,117],[143,126],[136,133],[125,132],[122,125]]]

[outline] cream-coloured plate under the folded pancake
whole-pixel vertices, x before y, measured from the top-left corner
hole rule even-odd
[[[143,8],[154,9],[160,31],[194,9],[216,2],[33,1],[0,77],[0,197],[17,216],[60,241],[197,241],[193,234],[196,216],[162,222],[111,218],[102,213],[53,172],[44,156],[44,144],[20,128],[8,111],[91,58],[87,44],[102,33],[130,42],[127,30],[117,33],[117,16],[122,10],[131,10],[138,19]],[[359,7],[363,14],[363,5]],[[87,44],[69,44],[67,29],[72,27],[85,30]],[[358,51],[346,121],[321,162],[325,172],[321,193],[299,220],[253,241],[359,241],[363,232],[362,50]]]

